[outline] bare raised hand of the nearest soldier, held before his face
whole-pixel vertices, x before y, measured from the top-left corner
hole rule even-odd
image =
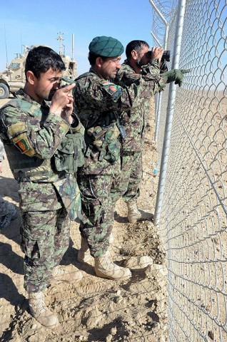
[[[71,104],[72,92],[75,83],[70,84],[64,88],[56,90],[51,99],[50,113],[61,116],[62,110]]]

